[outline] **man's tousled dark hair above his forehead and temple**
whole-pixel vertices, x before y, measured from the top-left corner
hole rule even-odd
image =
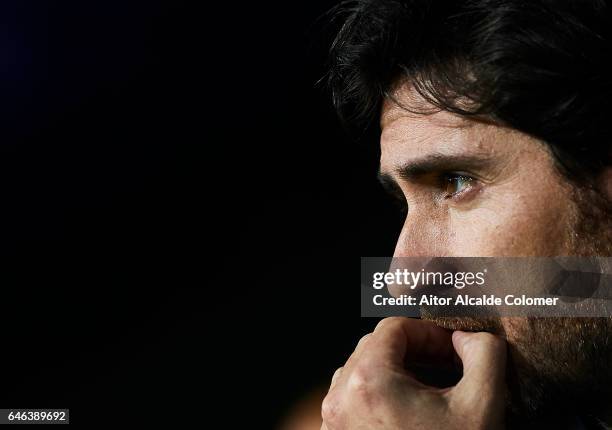
[[[404,79],[436,108],[545,141],[562,170],[589,179],[612,147],[612,22],[597,0],[359,0],[327,76],[351,125],[371,124]]]

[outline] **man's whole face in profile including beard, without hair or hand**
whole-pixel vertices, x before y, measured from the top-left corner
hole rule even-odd
[[[394,98],[402,106],[386,102],[381,116],[380,171],[408,209],[396,257],[612,255],[609,203],[568,182],[544,143],[444,111],[411,113],[427,106],[408,86]],[[507,338],[523,410],[609,392],[609,319],[434,320]]]

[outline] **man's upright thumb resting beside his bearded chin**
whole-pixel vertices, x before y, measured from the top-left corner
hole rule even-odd
[[[455,387],[488,398],[505,387],[506,342],[491,333],[455,331],[453,345],[463,363],[463,377]]]

